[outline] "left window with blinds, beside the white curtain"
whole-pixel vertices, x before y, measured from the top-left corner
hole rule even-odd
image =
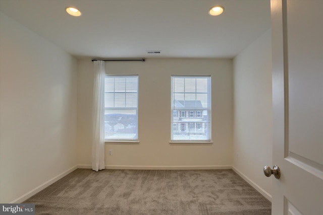
[[[138,140],[138,76],[106,75],[105,140]]]

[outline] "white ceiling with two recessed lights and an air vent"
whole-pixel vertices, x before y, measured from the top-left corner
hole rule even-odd
[[[209,16],[214,5],[224,13]],[[232,58],[271,27],[268,0],[1,0],[0,11],[77,57]]]

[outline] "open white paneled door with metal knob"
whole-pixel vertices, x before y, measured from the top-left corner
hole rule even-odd
[[[323,214],[323,1],[272,0],[272,214]]]

